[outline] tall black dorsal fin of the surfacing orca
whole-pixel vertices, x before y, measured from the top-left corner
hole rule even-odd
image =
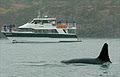
[[[108,61],[108,62],[111,62],[110,61],[110,58],[109,58],[109,54],[108,54],[108,44],[105,43],[101,52],[100,52],[100,55],[97,57],[103,61]]]

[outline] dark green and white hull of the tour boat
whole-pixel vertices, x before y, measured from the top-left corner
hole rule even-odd
[[[24,42],[77,42],[76,35],[69,34],[36,34],[36,33],[3,33],[14,43]]]

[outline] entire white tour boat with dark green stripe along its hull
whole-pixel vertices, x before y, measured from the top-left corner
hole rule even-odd
[[[79,42],[75,22],[61,22],[48,16],[34,18],[16,31],[4,31],[12,42]]]

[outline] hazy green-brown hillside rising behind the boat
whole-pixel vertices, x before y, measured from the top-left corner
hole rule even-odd
[[[22,25],[38,10],[76,21],[82,37],[120,37],[120,0],[0,0],[0,25]]]

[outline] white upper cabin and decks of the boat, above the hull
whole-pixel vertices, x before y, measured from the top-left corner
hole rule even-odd
[[[17,31],[22,33],[36,33],[36,34],[76,34],[76,23],[61,22],[56,18],[37,17],[31,22],[19,26]]]

